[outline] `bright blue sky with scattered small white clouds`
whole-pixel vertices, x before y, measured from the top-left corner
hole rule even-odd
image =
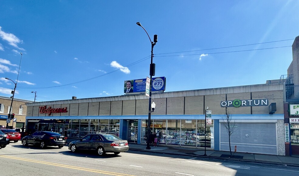
[[[154,77],[166,77],[166,91],[264,84],[287,74],[298,9],[297,0],[0,1],[0,96],[12,96],[5,78],[18,78],[15,98],[36,91],[38,102],[123,95],[125,80],[149,77],[151,43],[136,22],[158,35]]]

